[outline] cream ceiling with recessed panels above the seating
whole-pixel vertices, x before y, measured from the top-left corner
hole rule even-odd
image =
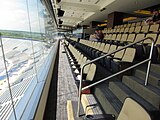
[[[63,17],[58,18],[63,21],[62,25],[76,26],[104,21],[114,11],[132,13],[156,4],[160,4],[160,0],[61,0],[56,7],[65,11]]]

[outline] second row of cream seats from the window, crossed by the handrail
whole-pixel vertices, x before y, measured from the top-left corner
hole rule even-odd
[[[111,53],[117,49],[120,49],[123,46],[80,40],[80,43],[77,45],[77,47],[91,58],[97,58],[104,54]],[[111,54],[104,59],[101,59],[100,63],[111,72],[117,72],[130,66],[134,61],[135,55],[135,48],[126,48],[116,52],[115,54]]]

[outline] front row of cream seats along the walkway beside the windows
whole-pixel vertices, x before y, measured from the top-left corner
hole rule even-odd
[[[79,80],[81,79],[80,71],[82,66],[89,62],[90,60],[80,51],[78,51],[73,45],[71,45],[68,41],[65,41],[66,52],[68,55],[68,59],[72,68],[73,75],[75,77],[76,83],[79,85]],[[94,76],[96,73],[96,65],[94,63],[88,64],[84,67],[83,71],[83,83],[88,84],[94,80]]]

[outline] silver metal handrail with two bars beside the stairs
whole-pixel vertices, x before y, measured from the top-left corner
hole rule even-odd
[[[150,55],[149,55],[149,58],[148,58],[148,59],[143,60],[143,61],[141,61],[141,62],[139,62],[139,63],[137,63],[137,64],[135,64],[135,65],[132,65],[132,66],[130,66],[130,67],[128,67],[128,68],[126,68],[126,69],[124,69],[124,70],[122,70],[122,71],[119,71],[119,72],[117,72],[117,73],[115,73],[115,74],[113,74],[113,75],[110,75],[109,77],[106,77],[106,78],[104,78],[104,79],[102,79],[102,80],[99,80],[99,81],[97,81],[97,82],[95,82],[95,83],[92,83],[92,84],[90,84],[90,85],[82,88],[83,70],[84,70],[84,67],[85,67],[86,65],[91,64],[91,63],[93,63],[93,62],[96,62],[96,61],[98,61],[98,60],[100,60],[100,59],[102,59],[102,58],[104,58],[104,57],[106,57],[106,56],[109,56],[109,55],[111,55],[111,54],[114,54],[114,53],[116,53],[116,52],[119,52],[119,51],[121,51],[121,50],[123,50],[123,49],[126,49],[126,48],[128,48],[128,47],[130,47],[130,46],[132,46],[132,45],[135,45],[135,44],[137,44],[137,43],[140,43],[140,42],[145,41],[145,40],[148,40],[148,39],[150,39],[150,40],[151,40],[151,43],[152,43],[152,44],[151,44],[151,49],[150,49]],[[153,53],[153,46],[154,46],[154,39],[153,39],[152,37],[147,37],[147,38],[141,39],[141,40],[139,40],[139,41],[136,41],[136,42],[134,42],[134,43],[128,44],[128,45],[126,45],[126,46],[124,46],[124,47],[122,47],[122,48],[120,48],[120,49],[118,49],[118,50],[114,50],[113,52],[110,52],[110,53],[108,53],[108,54],[105,54],[105,55],[103,55],[103,56],[100,56],[100,57],[98,57],[98,58],[95,58],[95,59],[87,62],[86,64],[82,65],[82,68],[81,68],[81,79],[80,79],[80,85],[79,85],[79,95],[78,95],[77,117],[79,117],[79,113],[80,113],[81,92],[82,92],[83,90],[88,89],[88,88],[90,88],[90,87],[93,87],[93,86],[95,86],[95,85],[97,85],[97,84],[99,84],[99,83],[101,83],[101,82],[104,82],[104,81],[106,81],[106,80],[108,80],[108,79],[110,79],[110,78],[113,78],[113,77],[121,74],[121,73],[124,73],[124,72],[126,72],[126,71],[128,71],[128,70],[130,70],[130,69],[133,69],[133,68],[135,68],[135,67],[137,67],[137,66],[139,66],[139,65],[141,65],[141,64],[143,64],[143,63],[145,63],[145,62],[148,62],[148,68],[147,68],[146,79],[145,79],[145,86],[146,86],[147,83],[148,83],[148,78],[149,78],[149,72],[150,72],[150,66],[151,66],[151,57],[152,57],[152,53]]]

